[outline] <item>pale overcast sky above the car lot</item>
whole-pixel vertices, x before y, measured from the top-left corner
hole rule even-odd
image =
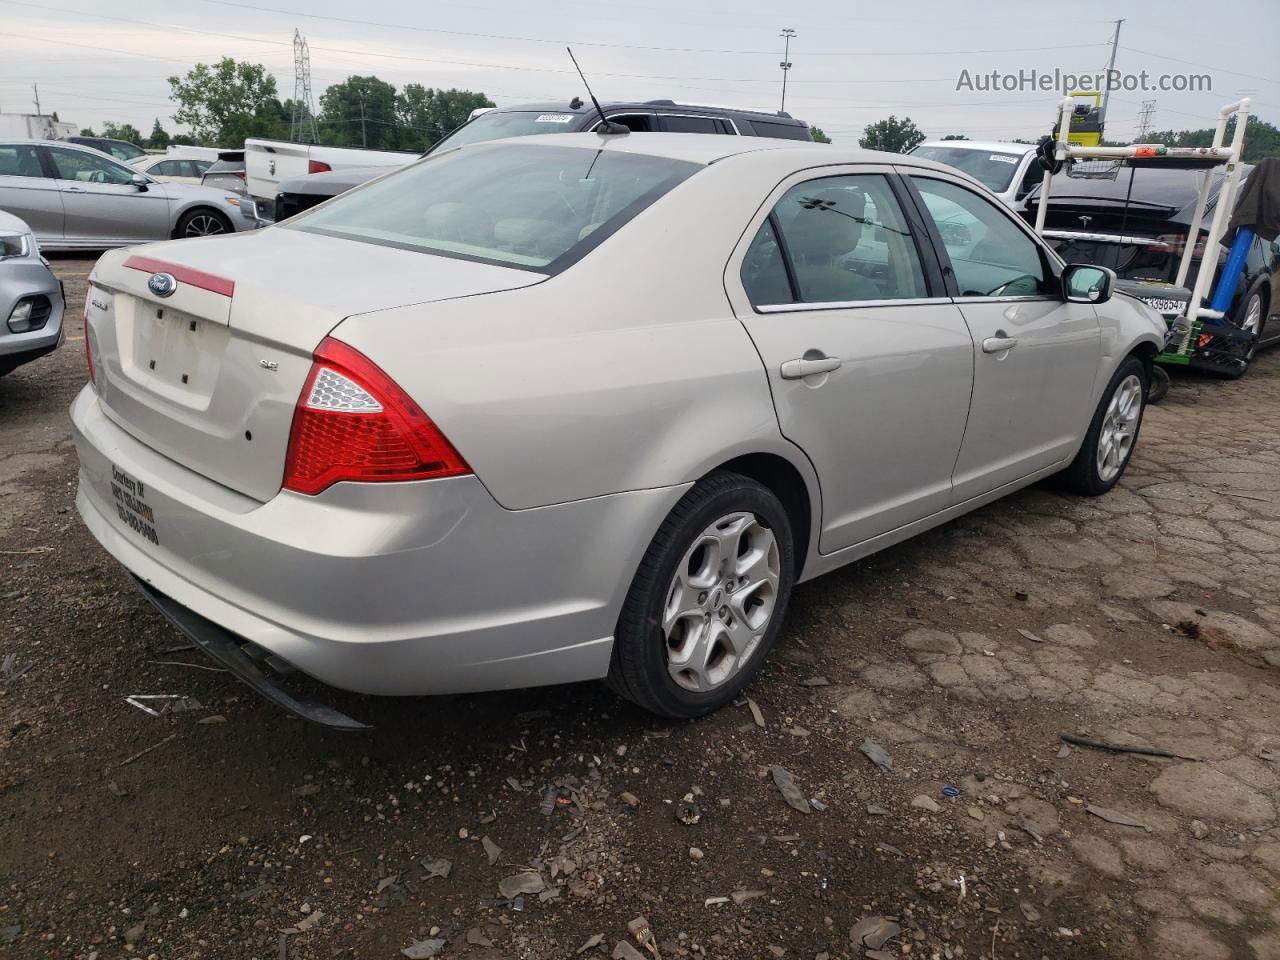
[[[1144,99],[1156,129],[1207,127],[1248,95],[1280,124],[1280,1],[1187,0],[1028,4],[955,0],[0,0],[0,110],[45,113],[99,127],[129,122],[170,131],[166,77],[221,56],[262,63],[280,97],[293,93],[294,27],[311,46],[312,92],[349,74],[398,87],[484,91],[497,104],[581,93],[564,42],[600,99],[671,97],[777,110],[781,28],[796,31],[787,111],[837,142],[890,114],[929,137],[1032,138],[1047,132],[1060,95],[957,91],[970,74],[1019,69],[1093,72],[1106,65],[1116,17],[1126,18],[1116,69],[1208,73],[1212,92],[1114,95],[1107,136],[1133,138]],[[1201,26],[1206,17],[1211,24]],[[356,20],[356,22],[347,22]],[[1180,63],[1189,61],[1189,63]]]

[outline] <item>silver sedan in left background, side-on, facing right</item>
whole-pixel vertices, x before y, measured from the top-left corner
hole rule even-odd
[[[0,142],[0,210],[20,216],[44,250],[106,250],[253,228],[239,197],[161,183],[76,143]]]

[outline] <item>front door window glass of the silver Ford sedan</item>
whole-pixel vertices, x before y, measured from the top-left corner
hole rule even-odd
[[[1034,297],[1050,293],[1039,247],[998,201],[946,180],[913,177],[937,224],[961,297]]]

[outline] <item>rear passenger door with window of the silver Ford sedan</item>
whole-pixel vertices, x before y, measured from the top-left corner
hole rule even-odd
[[[946,506],[973,385],[973,340],[905,192],[855,169],[781,184],[726,276],[782,433],[817,468],[822,553]]]

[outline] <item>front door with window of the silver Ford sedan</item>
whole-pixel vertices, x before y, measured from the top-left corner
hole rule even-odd
[[[977,346],[961,503],[1075,456],[1093,412],[1098,317],[1062,298],[1042,244],[1002,204],[942,175],[909,180]]]

